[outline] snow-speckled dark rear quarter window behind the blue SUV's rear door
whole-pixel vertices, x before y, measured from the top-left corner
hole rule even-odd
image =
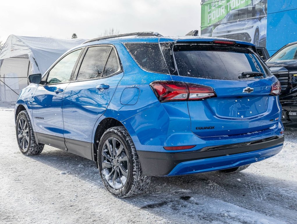
[[[168,74],[159,43],[125,43],[125,46],[143,70]]]

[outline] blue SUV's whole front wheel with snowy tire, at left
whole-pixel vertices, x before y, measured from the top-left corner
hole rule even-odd
[[[42,152],[44,144],[37,144],[32,123],[26,110],[18,114],[15,131],[18,147],[23,154],[31,156]]]

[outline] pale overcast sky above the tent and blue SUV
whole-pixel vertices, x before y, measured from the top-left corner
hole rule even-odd
[[[5,0],[0,5],[0,37],[98,37],[105,29],[120,33],[156,31],[185,35],[200,29],[201,0]]]

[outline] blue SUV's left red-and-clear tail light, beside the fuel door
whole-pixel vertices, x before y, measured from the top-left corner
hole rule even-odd
[[[150,86],[161,103],[170,101],[203,100],[216,96],[213,88],[193,83],[154,81]]]

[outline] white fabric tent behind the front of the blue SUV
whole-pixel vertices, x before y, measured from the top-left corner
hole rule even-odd
[[[16,101],[27,76],[45,71],[66,51],[85,39],[10,35],[0,52],[0,101]]]

